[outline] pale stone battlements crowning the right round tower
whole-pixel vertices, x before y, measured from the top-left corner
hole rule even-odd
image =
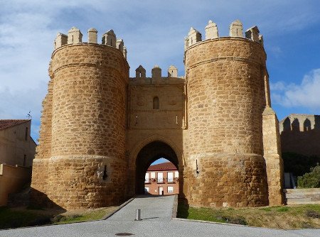
[[[208,25],[205,28],[206,31],[206,39],[205,40],[212,40],[215,38],[219,38],[218,35],[218,26],[213,21],[209,21]],[[233,23],[229,26],[229,37],[230,38],[247,38],[248,40],[255,41],[260,43],[263,47],[263,38],[262,35],[259,35],[260,31],[257,26],[252,26],[251,28],[245,31],[245,37],[243,37],[243,26],[239,20],[233,21]],[[191,45],[194,45],[198,42],[202,41],[202,35],[199,31],[194,29],[193,27],[190,28],[188,32],[188,37],[184,40],[184,50],[186,50]]]

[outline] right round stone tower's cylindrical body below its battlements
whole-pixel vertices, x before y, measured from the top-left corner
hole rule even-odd
[[[260,43],[218,38],[186,50],[188,158],[184,192],[192,206],[262,206],[266,55]]]

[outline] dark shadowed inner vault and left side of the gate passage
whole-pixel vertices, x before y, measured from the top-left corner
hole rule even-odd
[[[178,168],[178,158],[174,150],[161,141],[154,141],[144,146],[136,160],[136,194],[144,194],[144,180],[146,170],[152,162],[159,158],[166,158]]]

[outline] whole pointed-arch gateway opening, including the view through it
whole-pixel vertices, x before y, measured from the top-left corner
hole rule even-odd
[[[169,145],[154,141],[140,150],[136,160],[136,194],[178,194],[178,177],[178,158]]]

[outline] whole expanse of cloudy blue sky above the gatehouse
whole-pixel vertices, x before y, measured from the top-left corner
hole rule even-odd
[[[288,114],[320,114],[320,1],[46,1],[0,0],[0,118],[33,116],[36,140],[48,63],[58,32],[111,28],[124,39],[131,76],[141,64],[147,76],[159,65],[183,75],[183,39],[191,26],[209,20],[228,35],[235,19],[244,29],[257,25],[265,40],[272,106],[279,120]]]

